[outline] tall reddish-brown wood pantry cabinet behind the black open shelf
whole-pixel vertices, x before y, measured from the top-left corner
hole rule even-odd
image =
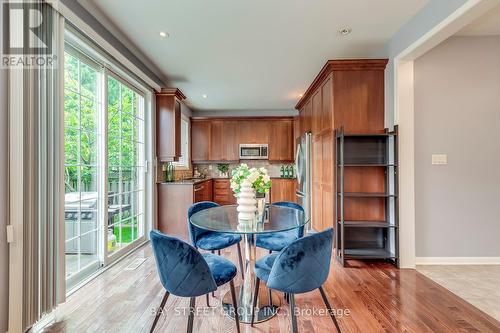
[[[343,127],[345,133],[384,133],[386,65],[386,59],[329,60],[296,105],[300,134],[313,134],[311,218],[317,231],[336,225],[334,130]]]

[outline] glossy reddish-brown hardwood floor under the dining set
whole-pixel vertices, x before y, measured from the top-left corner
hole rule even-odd
[[[238,262],[236,247],[223,255]],[[139,268],[124,270],[142,257],[147,260]],[[337,312],[350,312],[338,317],[342,332],[500,332],[500,322],[415,270],[357,261],[342,268],[333,258],[332,263],[324,289]],[[210,298],[211,308],[205,297],[196,300],[194,332],[236,331],[234,322],[220,313],[221,295],[228,290],[224,286]],[[163,294],[147,244],[71,295],[45,332],[148,332]],[[242,324],[241,331],[290,332],[288,307],[282,303],[277,317],[253,328]],[[298,316],[299,332],[334,332],[327,313],[311,313],[325,309],[319,291],[297,295],[296,304],[310,312]],[[188,306],[188,298],[171,296],[156,332],[185,332],[187,313],[181,310]]]

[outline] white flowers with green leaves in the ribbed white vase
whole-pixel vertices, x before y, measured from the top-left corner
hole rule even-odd
[[[235,194],[240,193],[241,183],[245,179],[252,184],[257,193],[267,193],[271,188],[271,177],[266,168],[249,168],[247,164],[241,163],[231,174],[231,189]]]

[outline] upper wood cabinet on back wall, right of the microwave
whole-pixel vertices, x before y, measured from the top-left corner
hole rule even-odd
[[[272,140],[269,140],[269,161],[293,161],[293,120],[276,120],[270,124]]]

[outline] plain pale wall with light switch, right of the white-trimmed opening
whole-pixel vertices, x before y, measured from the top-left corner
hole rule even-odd
[[[417,257],[499,257],[500,36],[452,37],[414,75]]]

